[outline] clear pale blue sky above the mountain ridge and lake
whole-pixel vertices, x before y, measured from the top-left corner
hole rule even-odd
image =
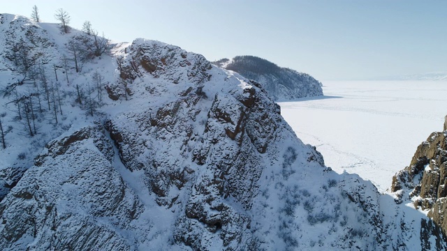
[[[254,55],[316,79],[369,79],[447,71],[444,0],[15,0],[0,13],[71,26],[89,20],[115,41],[142,37],[210,61]]]

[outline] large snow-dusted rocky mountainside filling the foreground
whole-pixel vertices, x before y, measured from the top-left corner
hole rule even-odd
[[[446,246],[425,214],[325,167],[258,82],[91,39],[0,15],[1,250]]]

